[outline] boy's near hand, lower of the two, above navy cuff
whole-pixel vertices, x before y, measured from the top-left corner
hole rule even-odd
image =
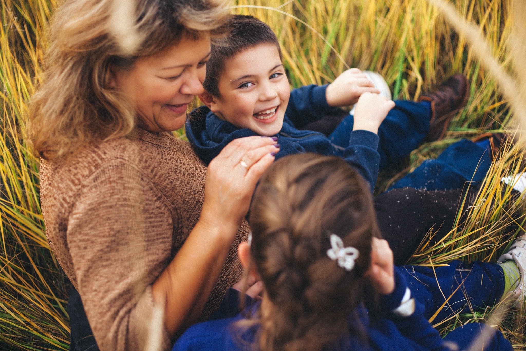
[[[363,93],[356,104],[355,123],[352,130],[361,129],[378,134],[378,127],[393,107],[395,107],[395,102],[388,100],[385,96]]]

